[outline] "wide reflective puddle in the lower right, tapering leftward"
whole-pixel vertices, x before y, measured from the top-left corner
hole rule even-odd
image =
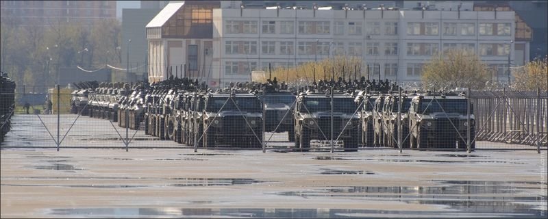
[[[530,181],[436,181],[439,186],[351,186],[318,190],[278,192],[303,198],[363,198],[367,201],[400,201],[421,205],[447,205],[449,209],[482,214],[526,214],[540,216],[547,196],[529,195],[540,190]],[[538,186],[531,186],[538,185]],[[520,215],[521,218],[525,215]]]

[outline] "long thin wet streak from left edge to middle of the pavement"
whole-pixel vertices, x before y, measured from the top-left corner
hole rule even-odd
[[[138,177],[27,177],[27,178],[17,178],[21,179],[63,179],[63,183],[55,184],[10,184],[2,183],[2,186],[38,186],[38,187],[64,187],[64,188],[158,188],[158,187],[200,187],[200,186],[227,186],[227,185],[251,185],[258,183],[267,183],[275,181],[262,181],[257,179],[247,179],[247,178],[138,178]],[[164,181],[169,180],[169,183],[162,184],[146,184],[146,185],[121,185],[121,184],[109,184],[104,183],[100,184],[98,181],[95,181],[97,184],[82,185],[81,183],[77,185],[66,184],[66,180],[69,179],[148,179],[148,180],[157,180]]]

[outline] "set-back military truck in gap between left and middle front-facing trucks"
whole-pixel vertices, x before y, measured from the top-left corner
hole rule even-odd
[[[266,89],[266,88],[264,88]],[[265,105],[265,132],[288,132],[288,140],[295,142],[295,93],[289,90],[272,91],[266,89],[264,94],[257,93]]]

